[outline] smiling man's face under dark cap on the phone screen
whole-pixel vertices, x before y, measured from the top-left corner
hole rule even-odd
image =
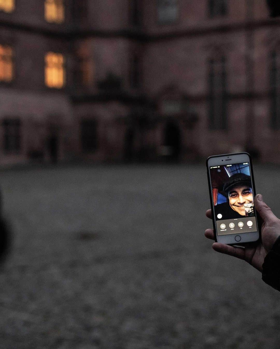
[[[242,216],[245,216],[244,203],[253,203],[252,188],[238,186],[228,193],[229,206]]]

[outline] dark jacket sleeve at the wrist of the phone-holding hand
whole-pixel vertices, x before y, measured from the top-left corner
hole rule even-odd
[[[264,259],[262,279],[275,290],[280,291],[280,236]]]

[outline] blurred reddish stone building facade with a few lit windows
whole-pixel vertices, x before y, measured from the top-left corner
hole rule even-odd
[[[0,163],[280,162],[265,0],[1,0]]]

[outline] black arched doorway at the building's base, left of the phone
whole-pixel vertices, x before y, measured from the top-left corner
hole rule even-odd
[[[164,147],[166,147],[166,159],[168,161],[178,161],[182,148],[181,132],[178,123],[171,119],[164,127]]]

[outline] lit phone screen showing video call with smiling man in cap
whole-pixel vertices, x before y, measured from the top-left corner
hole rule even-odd
[[[217,235],[257,231],[249,162],[210,166]]]

